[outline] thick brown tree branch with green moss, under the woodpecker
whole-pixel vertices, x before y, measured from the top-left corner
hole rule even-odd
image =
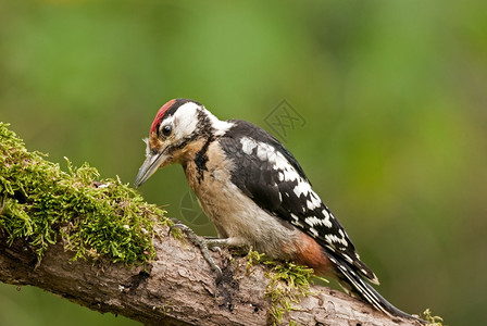
[[[277,321],[270,311],[278,302],[266,296],[269,266],[249,272],[246,258],[213,252],[224,276],[215,284],[199,248],[167,236],[167,225],[155,222],[160,212],[140,203],[135,192],[93,181],[87,167],[62,173],[23,149],[5,125],[0,127],[3,283],[36,286],[147,325],[419,325],[317,285]],[[134,261],[145,263],[127,267]]]

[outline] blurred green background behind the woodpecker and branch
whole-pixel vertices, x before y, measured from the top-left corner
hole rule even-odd
[[[282,139],[376,272],[449,325],[486,322],[487,1],[0,2],[0,120],[29,150],[132,183],[186,97]],[[199,234],[179,166],[141,189]],[[2,325],[136,325],[0,285]]]

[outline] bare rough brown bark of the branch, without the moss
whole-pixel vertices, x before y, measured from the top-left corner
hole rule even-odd
[[[99,312],[121,314],[147,325],[265,325],[270,299],[264,265],[247,273],[245,258],[213,252],[223,281],[202,258],[199,248],[157,227],[157,258],[146,267],[126,267],[107,260],[71,261],[63,243],[50,246],[41,263],[37,254],[16,240],[0,239],[0,280],[32,285]],[[300,325],[419,325],[394,319],[345,293],[314,285],[313,292],[295,303],[282,319]]]

